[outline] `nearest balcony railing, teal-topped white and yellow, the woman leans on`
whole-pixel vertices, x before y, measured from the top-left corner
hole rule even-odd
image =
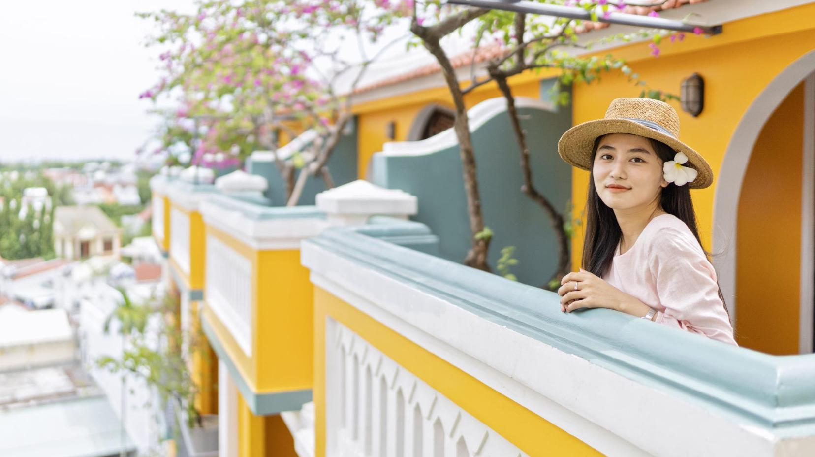
[[[366,230],[303,242],[316,455],[815,455],[815,355],[563,314],[553,292]]]

